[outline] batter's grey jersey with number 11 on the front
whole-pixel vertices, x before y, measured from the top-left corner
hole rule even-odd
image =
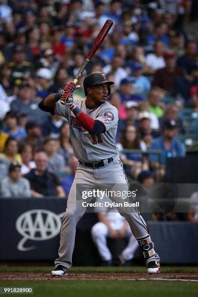
[[[95,109],[88,109],[85,105],[86,99],[74,102],[86,115],[99,120],[106,127],[106,132],[91,135],[87,132],[77,117],[70,109],[58,101],[55,105],[55,113],[66,117],[69,122],[69,132],[74,156],[81,162],[97,162],[113,158],[118,155],[116,147],[116,131],[118,122],[118,111],[109,102],[102,103]]]

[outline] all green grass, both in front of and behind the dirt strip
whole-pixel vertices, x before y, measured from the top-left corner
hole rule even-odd
[[[52,266],[0,266],[0,272],[47,272]],[[72,267],[69,271],[146,272],[145,267]],[[196,266],[164,266],[162,272],[198,273]],[[0,281],[0,287],[33,287],[36,297],[197,297],[198,282],[119,280],[25,280]],[[14,296],[14,295],[10,295]],[[16,296],[16,295],[15,295]]]

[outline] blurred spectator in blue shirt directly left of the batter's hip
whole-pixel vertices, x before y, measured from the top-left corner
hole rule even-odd
[[[68,176],[63,178],[62,181],[61,181],[61,185],[63,186],[63,188],[64,188],[64,190],[66,192],[66,195],[69,194],[71,185],[72,185],[72,183],[74,181],[74,176],[75,176],[78,164],[79,164],[78,159],[76,159],[76,157],[74,155],[71,155],[70,158],[69,158],[69,166],[70,166],[70,169],[71,169],[71,174],[69,174]]]

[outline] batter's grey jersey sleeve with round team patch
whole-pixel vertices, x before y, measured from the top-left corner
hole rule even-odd
[[[101,110],[96,120],[104,125],[105,132],[111,128],[117,128],[118,111],[114,106],[108,106]]]

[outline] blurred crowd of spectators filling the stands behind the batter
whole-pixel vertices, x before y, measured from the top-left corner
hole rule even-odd
[[[0,0],[1,196],[68,194],[78,165],[68,123],[38,103],[74,79],[108,18],[113,28],[78,83],[93,71],[115,82],[109,102],[126,174],[163,181],[166,159],[185,155],[179,112],[198,112],[196,0]],[[148,149],[160,149],[161,161]]]

